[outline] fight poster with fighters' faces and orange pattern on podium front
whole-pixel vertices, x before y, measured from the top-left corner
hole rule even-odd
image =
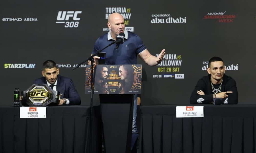
[[[94,94],[141,94],[141,65],[96,65]],[[86,66],[86,94],[91,93],[91,66]]]

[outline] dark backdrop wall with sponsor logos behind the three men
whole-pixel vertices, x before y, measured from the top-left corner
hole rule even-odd
[[[121,11],[127,17],[126,27],[133,27],[152,55],[166,49],[166,54],[172,56],[165,59],[166,63],[178,63],[150,67],[138,58],[138,64],[144,68],[142,105],[188,104],[197,80],[207,75],[203,70],[207,66],[205,61],[212,56],[220,56],[227,69],[231,69],[226,74],[237,82],[239,104],[252,104],[255,8],[253,0],[1,1],[1,105],[12,105],[15,87],[25,90],[41,77],[41,65],[47,59],[60,65],[61,75],[72,78],[82,105],[89,105],[90,95],[84,94],[85,68],[75,71],[71,68],[89,56],[96,39],[108,32],[106,16],[112,10]],[[67,12],[71,15],[67,20],[57,20],[59,11],[74,12]],[[27,18],[31,19],[27,21]],[[167,18],[183,23],[166,23]],[[165,23],[157,23],[160,21]],[[65,24],[70,27],[65,28]],[[12,68],[15,63],[35,64],[35,67]],[[159,72],[163,68],[165,72]],[[176,72],[166,72],[169,68]],[[175,74],[183,74],[184,79],[176,79]],[[154,78],[159,75],[162,78]],[[164,78],[165,75],[171,78]],[[94,104],[99,104],[98,95]]]

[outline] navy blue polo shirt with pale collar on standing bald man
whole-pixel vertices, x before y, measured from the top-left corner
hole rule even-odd
[[[102,51],[106,53],[105,64],[137,64],[137,55],[142,53],[146,47],[137,34],[125,30],[124,35],[124,43],[120,44],[117,49],[116,44],[113,44]],[[93,54],[109,45],[112,41],[113,38],[110,31],[100,36],[94,44]]]

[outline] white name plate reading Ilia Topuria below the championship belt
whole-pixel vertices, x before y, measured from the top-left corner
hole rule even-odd
[[[46,118],[46,107],[20,107],[20,118]]]

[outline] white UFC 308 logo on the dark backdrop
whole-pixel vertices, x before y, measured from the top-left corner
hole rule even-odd
[[[80,20],[79,14],[82,14],[82,11],[59,11],[56,23],[65,23],[65,28],[77,28]]]

